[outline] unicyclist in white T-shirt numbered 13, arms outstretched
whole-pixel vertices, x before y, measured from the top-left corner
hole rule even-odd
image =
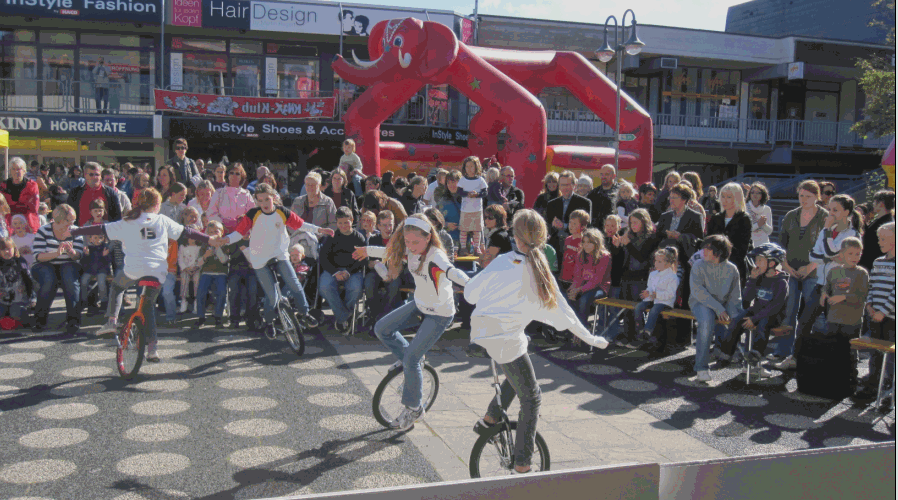
[[[85,226],[71,231],[73,236],[105,235],[110,240],[122,242],[125,252],[125,267],[112,280],[109,292],[109,322],[98,333],[113,333],[120,328],[117,324],[122,307],[122,294],[134,286],[137,280],[152,277],[159,281],[158,288],[148,288],[144,301],[144,317],[147,319],[147,361],[157,362],[156,354],[156,299],[162,291],[161,284],[168,275],[168,240],[194,239],[207,243],[209,237],[176,223],[164,215],[159,215],[162,196],[153,188],[140,192],[134,208],[117,222]]]

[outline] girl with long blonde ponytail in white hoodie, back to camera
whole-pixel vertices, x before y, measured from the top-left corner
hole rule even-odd
[[[552,277],[543,253],[547,234],[543,218],[533,210],[520,210],[515,214],[513,227],[517,250],[496,257],[488,268],[471,278],[465,286],[465,300],[475,304],[471,342],[485,348],[505,373],[502,407],[508,409],[515,394],[521,398],[514,470],[526,473],[530,472],[542,396],[527,354],[524,327],[538,319],[558,330],[571,330],[600,349],[608,347],[608,342],[590,334],[580,323]],[[474,431],[487,432],[501,415],[493,398]]]

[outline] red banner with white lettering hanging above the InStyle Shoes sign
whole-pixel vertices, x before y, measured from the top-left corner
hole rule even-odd
[[[333,97],[238,97],[155,90],[158,111],[234,118],[333,118]]]

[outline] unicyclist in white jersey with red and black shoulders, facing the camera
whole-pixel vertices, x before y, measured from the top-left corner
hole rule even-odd
[[[214,238],[211,240],[213,246],[236,243],[249,234],[249,251],[247,260],[256,273],[259,285],[265,291],[265,310],[263,321],[265,329],[270,336],[273,336],[274,328],[274,305],[280,300],[278,292],[277,278],[268,269],[267,264],[270,260],[277,261],[278,274],[286,282],[293,299],[297,304],[297,319],[305,328],[314,328],[318,326],[318,321],[309,315],[309,303],[306,300],[306,294],[303,292],[302,284],[296,277],[296,271],[290,265],[290,254],[288,248],[290,245],[290,236],[287,234],[287,228],[299,229],[307,233],[317,233],[327,236],[333,236],[334,230],[318,227],[303,221],[298,215],[292,211],[275,205],[277,192],[268,184],[259,184],[253,197],[256,199],[258,207],[250,209],[243,217],[237,221],[237,227],[234,232]]]

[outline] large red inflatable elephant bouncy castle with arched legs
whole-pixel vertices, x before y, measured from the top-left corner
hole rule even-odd
[[[373,60],[361,61],[353,54],[355,64],[341,56],[333,63],[345,81],[367,87],[344,115],[346,136],[355,141],[366,173],[380,175],[382,158],[390,170],[396,169],[397,162],[414,164],[416,156],[423,161],[427,156],[419,148],[437,148],[429,151],[430,166],[435,161],[451,165],[450,158],[463,151],[481,158],[496,156],[503,165],[514,167],[518,187],[532,199],[547,171],[570,168],[592,175],[603,164],[614,162],[613,148],[547,146],[546,112],[536,98],[547,87],[567,88],[602,121],[614,123],[617,88],[582,55],[468,47],[448,27],[414,18],[381,21],[370,33],[368,52]],[[471,119],[468,148],[399,143],[382,148],[381,123],[423,86],[443,84],[480,108]],[[629,140],[627,149],[620,151],[619,176],[648,182],[651,117],[624,93],[620,116],[621,136]],[[505,144],[500,150],[503,130]]]

